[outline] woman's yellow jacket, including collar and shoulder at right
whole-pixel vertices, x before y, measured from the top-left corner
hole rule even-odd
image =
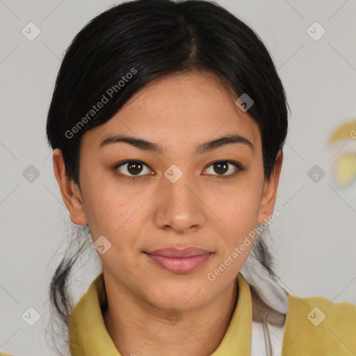
[[[252,298],[241,273],[237,281],[236,308],[213,356],[250,355]],[[103,275],[98,275],[72,309],[68,330],[72,356],[120,356],[102,317],[103,282]],[[356,355],[356,305],[333,303],[320,296],[297,298],[286,294],[289,309],[281,356]]]

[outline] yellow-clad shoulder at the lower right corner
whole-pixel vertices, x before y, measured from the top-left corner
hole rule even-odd
[[[285,345],[308,345],[325,355],[356,353],[356,305],[332,302],[322,296],[298,298],[286,293],[289,301],[285,323]],[[293,341],[295,339],[295,341]]]

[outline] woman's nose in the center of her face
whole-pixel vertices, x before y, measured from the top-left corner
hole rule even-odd
[[[177,234],[197,231],[204,225],[204,202],[199,189],[184,173],[175,183],[162,177],[155,223],[161,229],[172,229]]]

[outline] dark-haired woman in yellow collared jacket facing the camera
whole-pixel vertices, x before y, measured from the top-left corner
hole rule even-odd
[[[72,308],[83,243],[51,281],[71,355],[356,353],[356,306],[284,291],[260,235],[287,118],[266,47],[215,3],[129,1],[76,35],[47,137],[102,274]]]

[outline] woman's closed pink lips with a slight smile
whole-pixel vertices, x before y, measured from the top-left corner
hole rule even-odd
[[[200,248],[166,248],[145,253],[156,264],[174,273],[189,273],[202,266],[213,254]]]

